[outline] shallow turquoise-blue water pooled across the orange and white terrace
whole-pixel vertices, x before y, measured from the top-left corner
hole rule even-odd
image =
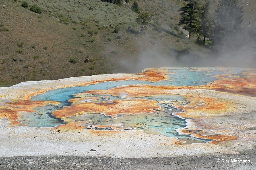
[[[216,80],[214,75],[217,74],[230,74],[224,73],[220,71],[216,71],[214,69],[210,69],[207,71],[193,70],[191,68],[173,68],[169,69],[168,75],[169,80],[162,80],[160,82],[150,82],[150,81],[141,81],[141,80],[125,80],[125,81],[115,81],[115,82],[99,82],[97,84],[88,85],[88,86],[75,86],[75,87],[67,87],[67,88],[58,88],[54,90],[48,90],[44,94],[38,94],[32,96],[30,100],[44,100],[44,101],[57,101],[61,104],[59,106],[47,105],[43,107],[34,107],[33,109],[37,112],[33,114],[24,114],[20,118],[22,122],[26,124],[25,126],[33,126],[33,127],[52,127],[57,126],[59,124],[63,124],[60,119],[57,119],[51,116],[51,112],[59,109],[63,109],[63,107],[71,105],[68,101],[71,98],[75,98],[73,94],[85,92],[88,90],[108,90],[111,88],[115,88],[117,86],[124,85],[136,85],[136,84],[148,84],[152,86],[166,85],[166,86],[199,86],[205,85],[209,82],[213,82]],[[233,69],[232,74],[237,74],[241,70]],[[101,101],[104,100],[117,100],[120,97],[108,95],[108,99],[105,97],[100,97],[102,95],[91,95],[95,97],[99,97]],[[106,95],[105,95],[106,96]],[[118,115],[115,118],[111,118],[110,116],[104,116],[104,114],[84,114],[79,117],[70,117],[75,122],[77,121],[88,121],[88,124],[84,124],[88,128],[93,128],[95,130],[112,130],[111,128],[99,129],[94,126],[96,125],[107,125],[107,124],[117,124],[121,125],[122,128],[127,128],[130,130],[143,130],[145,132],[166,135],[169,137],[179,137],[179,139],[186,139],[195,142],[208,142],[210,140],[207,139],[199,139],[191,137],[190,135],[181,135],[176,132],[176,129],[185,128],[186,121],[177,116],[173,116],[174,112],[182,112],[180,109],[176,109],[172,106],[172,103],[175,101],[179,101],[181,105],[185,105],[187,101],[179,95],[154,95],[148,97],[142,97],[143,99],[153,100],[160,102],[158,105],[161,106],[165,111],[154,112],[150,114],[140,113],[137,115]],[[125,98],[122,98],[125,99]],[[164,103],[161,101],[165,101]],[[90,102],[90,101],[87,101]],[[100,102],[100,101],[99,101]],[[42,113],[42,114],[38,114]]]

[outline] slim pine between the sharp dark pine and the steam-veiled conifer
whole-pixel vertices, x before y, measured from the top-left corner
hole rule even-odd
[[[200,34],[203,35],[203,45],[205,46],[205,38],[210,38],[213,26],[213,20],[209,14],[210,0],[201,7],[201,30]]]

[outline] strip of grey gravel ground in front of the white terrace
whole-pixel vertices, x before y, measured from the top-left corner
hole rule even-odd
[[[218,159],[220,163],[218,163]],[[232,163],[231,160],[250,160],[250,163]],[[221,160],[226,160],[221,162]],[[228,162],[229,161],[229,162]],[[256,155],[243,154],[195,155],[168,158],[106,158],[86,156],[23,156],[0,158],[0,169],[83,169],[83,170],[165,170],[216,169],[256,170]]]

